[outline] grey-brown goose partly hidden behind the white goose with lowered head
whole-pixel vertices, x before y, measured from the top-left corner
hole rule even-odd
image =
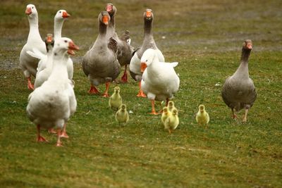
[[[159,58],[160,62],[164,62],[164,55],[161,51],[157,48],[156,43],[154,42],[153,32],[152,32],[152,23],[154,19],[154,14],[151,9],[147,9],[144,14],[144,38],[142,46],[133,52],[133,57],[130,60],[129,70],[130,75],[133,79],[139,82],[139,92],[137,94],[138,97],[146,97],[144,92],[141,89],[141,80],[142,80],[142,73],[140,71],[140,60],[142,55],[147,49],[154,49],[157,53],[157,57]]]

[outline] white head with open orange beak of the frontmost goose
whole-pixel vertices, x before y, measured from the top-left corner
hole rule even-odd
[[[54,46],[54,56],[57,54],[65,54],[66,52],[70,55],[74,55],[75,52],[73,50],[78,50],[79,47],[76,46],[73,41],[67,37],[62,37],[56,40]]]

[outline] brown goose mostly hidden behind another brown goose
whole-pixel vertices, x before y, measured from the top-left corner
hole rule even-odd
[[[130,60],[133,54],[133,46],[130,46],[130,36],[129,31],[126,30],[123,33],[122,37],[118,37],[116,34],[116,23],[115,23],[115,15],[116,15],[116,6],[113,4],[106,4],[106,11],[109,13],[111,20],[109,22],[107,37],[114,37],[116,42],[118,43],[118,62],[121,66],[125,66],[125,70],[123,76],[121,77],[122,82],[128,82],[128,73],[127,73],[127,65],[129,65]]]

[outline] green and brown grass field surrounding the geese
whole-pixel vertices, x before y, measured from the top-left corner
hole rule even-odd
[[[1,2],[0,186],[1,187],[282,187],[281,1],[113,1],[116,30],[142,42],[142,12],[154,11],[154,38],[166,61],[178,61],[180,125],[168,134],[160,116],[137,99],[137,83],[119,84],[130,114],[125,127],[114,121],[108,99],[87,94],[80,57],[97,37],[97,15],[108,1],[34,1],[42,37],[63,8],[63,26],[80,51],[75,62],[78,109],[68,122],[69,139],[56,148],[35,142],[25,108],[30,94],[18,68],[28,34],[27,1]],[[165,39],[162,39],[165,38]],[[221,99],[221,85],[239,65],[244,39],[254,44],[250,76],[258,98],[248,122],[237,124]],[[221,84],[220,86],[216,86]],[[111,84],[111,92],[116,84]],[[99,87],[104,91],[104,85]],[[195,123],[205,104],[209,127]],[[243,111],[240,112],[240,116]]]

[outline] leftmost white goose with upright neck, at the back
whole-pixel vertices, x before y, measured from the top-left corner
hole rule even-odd
[[[25,14],[27,15],[28,22],[30,23],[30,32],[27,37],[27,43],[23,46],[20,51],[20,68],[23,70],[23,74],[27,78],[27,88],[34,89],[31,82],[31,76],[35,77],[37,73],[38,59],[27,54],[27,51],[32,49],[37,49],[42,54],[46,54],[46,46],[40,37],[38,30],[38,13],[35,5],[28,4],[25,9]]]

